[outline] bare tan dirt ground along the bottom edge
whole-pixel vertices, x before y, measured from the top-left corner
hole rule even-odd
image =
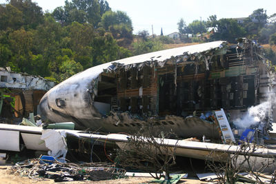
[[[27,176],[17,176],[15,174],[10,174],[8,169],[11,166],[0,166],[0,183],[5,184],[18,184],[18,183],[55,183],[51,179],[31,179]],[[70,181],[70,182],[61,182],[61,183],[68,183],[68,184],[75,184],[75,183],[121,183],[121,184],[128,184],[128,183],[148,183],[151,181],[152,178],[143,178],[143,177],[128,177],[128,178],[121,178],[115,180],[108,180],[108,181]],[[188,177],[182,178],[178,183],[185,183],[185,184],[196,184],[196,183],[206,183],[199,181],[197,178]]]

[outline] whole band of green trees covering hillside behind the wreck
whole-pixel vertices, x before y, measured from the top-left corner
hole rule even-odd
[[[243,23],[212,15],[208,21],[188,25],[180,19],[177,27],[180,34],[207,34],[206,28],[215,28],[204,41],[235,42],[237,37],[250,37],[275,45],[275,17],[257,9]],[[43,12],[32,0],[10,0],[0,4],[0,64],[14,72],[62,81],[86,68],[176,43],[166,36],[149,37],[146,30],[137,35],[132,32],[128,14],[112,11],[105,0],[66,0],[52,13]],[[273,51],[268,51],[274,58]]]

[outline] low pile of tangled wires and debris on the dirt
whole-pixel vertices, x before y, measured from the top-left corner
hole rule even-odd
[[[29,159],[10,167],[9,172],[32,179],[50,178],[55,182],[100,181],[126,177],[126,170],[110,163],[61,163],[57,159],[53,161]]]

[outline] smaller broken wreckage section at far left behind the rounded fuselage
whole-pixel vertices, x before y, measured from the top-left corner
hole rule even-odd
[[[54,85],[41,76],[0,68],[0,123],[18,124],[31,113],[39,114],[41,97]]]

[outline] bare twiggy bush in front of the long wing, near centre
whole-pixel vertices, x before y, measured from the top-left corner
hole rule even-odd
[[[132,170],[149,172],[154,178],[169,179],[170,167],[175,165],[175,147],[166,146],[166,139],[174,134],[160,132],[156,127],[142,127],[136,134],[128,138],[128,143],[122,150],[117,150],[117,163],[123,167],[131,167]],[[151,174],[151,173],[154,174]]]

